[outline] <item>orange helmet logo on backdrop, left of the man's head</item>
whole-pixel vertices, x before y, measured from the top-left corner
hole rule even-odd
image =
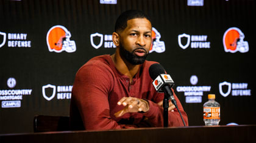
[[[70,37],[71,33],[62,25],[55,25],[50,28],[46,37],[49,52],[75,52],[76,43],[74,41],[70,41]]]

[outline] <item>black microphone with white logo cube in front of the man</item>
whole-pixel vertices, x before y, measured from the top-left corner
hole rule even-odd
[[[176,100],[174,99],[171,88],[174,85],[174,81],[172,80],[170,75],[167,75],[165,72],[165,68],[160,64],[152,64],[149,67],[149,76],[154,80],[152,82],[155,90],[157,92],[164,92],[168,95],[168,98],[171,99],[172,104],[177,108]]]

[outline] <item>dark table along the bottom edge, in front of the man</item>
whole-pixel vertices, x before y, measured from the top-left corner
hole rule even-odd
[[[0,142],[256,142],[256,125],[16,133],[0,135]]]

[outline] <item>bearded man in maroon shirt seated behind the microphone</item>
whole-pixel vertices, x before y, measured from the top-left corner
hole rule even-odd
[[[143,12],[128,10],[119,16],[112,35],[116,52],[96,56],[77,71],[70,108],[73,130],[163,127],[164,95],[155,91],[149,76],[149,67],[157,62],[146,61],[151,35],[151,22]],[[171,102],[168,115],[169,126],[183,126]]]

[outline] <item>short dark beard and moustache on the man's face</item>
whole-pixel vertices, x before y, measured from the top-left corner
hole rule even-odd
[[[135,48],[131,53],[129,51],[127,51],[126,49],[124,49],[123,45],[120,43],[119,45],[120,48],[120,55],[126,59],[128,62],[130,62],[130,64],[133,65],[139,65],[139,64],[143,64],[144,61],[146,60],[147,56],[149,55],[146,50],[144,48]],[[138,49],[142,49],[146,52],[146,54],[144,56],[137,56],[135,54],[135,50]]]

